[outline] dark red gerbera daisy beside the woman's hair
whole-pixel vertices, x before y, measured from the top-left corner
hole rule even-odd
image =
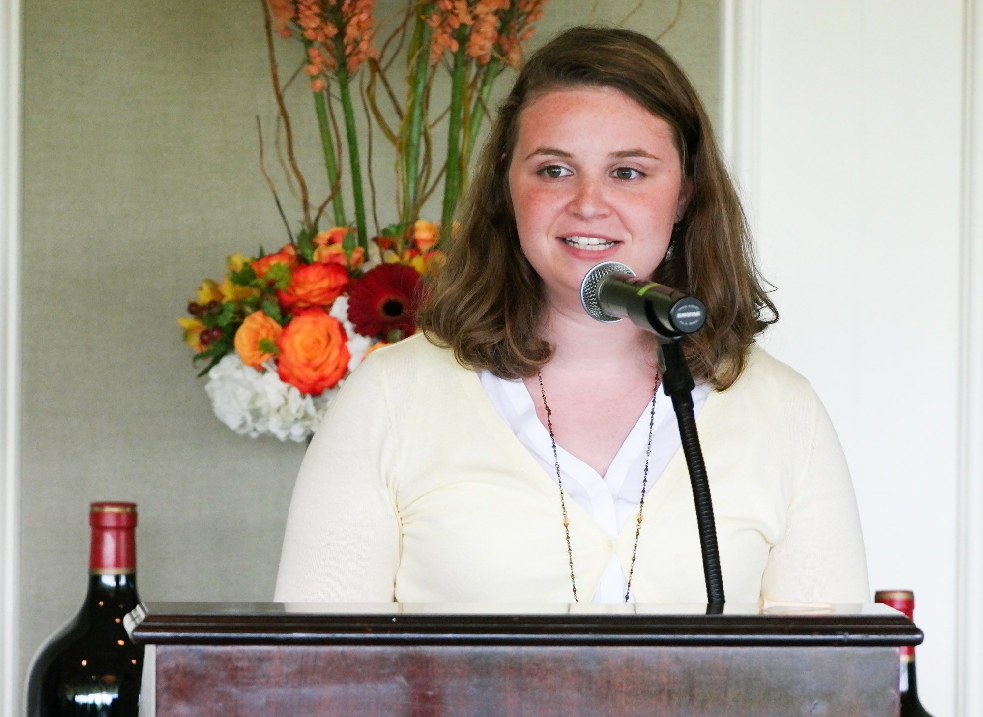
[[[416,330],[421,278],[403,264],[381,264],[367,271],[348,295],[348,320],[363,336],[389,340],[392,331],[405,336]]]

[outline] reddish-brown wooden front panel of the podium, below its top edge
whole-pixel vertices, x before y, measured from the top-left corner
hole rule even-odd
[[[156,647],[155,717],[896,717],[897,649]]]

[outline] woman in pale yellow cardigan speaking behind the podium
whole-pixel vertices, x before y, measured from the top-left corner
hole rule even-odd
[[[869,601],[830,418],[754,343],[777,313],[706,110],[657,43],[587,27],[502,104],[423,331],[321,423],[276,600],[706,601],[655,337],[581,306],[604,260],[707,306],[683,346],[727,601]]]

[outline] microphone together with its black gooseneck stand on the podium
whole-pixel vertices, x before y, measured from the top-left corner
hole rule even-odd
[[[696,522],[700,530],[703,576],[707,582],[707,614],[723,612],[723,576],[717,548],[717,525],[710,499],[707,467],[700,449],[700,436],[693,415],[696,384],[686,364],[679,342],[683,336],[700,330],[706,321],[706,306],[698,299],[674,289],[648,282],[634,275],[626,265],[603,261],[584,276],[580,287],[584,310],[606,323],[629,319],[636,326],[656,335],[659,341],[659,368],[663,391],[672,399],[672,409],[679,424],[689,480],[693,487]]]

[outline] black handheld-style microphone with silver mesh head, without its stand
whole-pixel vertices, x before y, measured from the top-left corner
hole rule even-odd
[[[627,318],[663,341],[699,331],[707,320],[707,307],[696,297],[640,279],[618,261],[602,261],[587,272],[580,303],[598,321]]]

